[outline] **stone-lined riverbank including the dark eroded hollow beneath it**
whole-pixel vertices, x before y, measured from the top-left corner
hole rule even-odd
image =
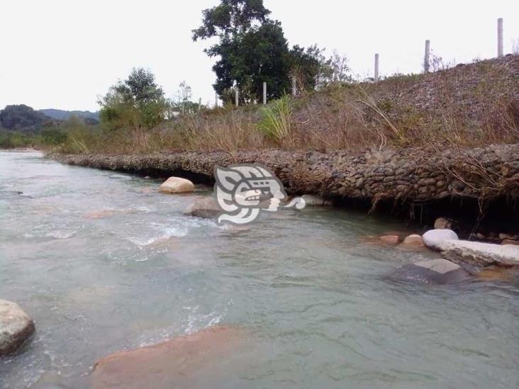
[[[148,155],[49,154],[67,164],[212,184],[215,166],[263,164],[289,194],[390,212],[421,225],[460,219],[464,230],[515,232],[519,144],[430,152],[418,148],[352,152],[176,152]],[[474,229],[474,223],[477,223]],[[482,226],[482,227],[481,227]],[[489,231],[481,231],[482,233]]]

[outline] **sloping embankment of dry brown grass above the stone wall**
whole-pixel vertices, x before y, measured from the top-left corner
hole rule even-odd
[[[483,61],[379,84],[333,84],[267,107],[201,111],[154,130],[72,131],[61,151],[235,154],[272,147],[327,152],[519,142],[518,83],[509,73],[501,62]]]

